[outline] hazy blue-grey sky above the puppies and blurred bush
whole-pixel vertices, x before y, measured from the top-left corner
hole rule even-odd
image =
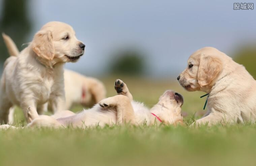
[[[174,77],[186,67],[189,55],[201,47],[216,47],[232,56],[239,45],[256,42],[256,9],[233,10],[233,3],[30,1],[34,30],[24,43],[46,22],[63,21],[72,25],[77,38],[86,44],[85,55],[66,68],[92,76],[104,74],[113,51],[130,47],[146,54],[152,76]]]

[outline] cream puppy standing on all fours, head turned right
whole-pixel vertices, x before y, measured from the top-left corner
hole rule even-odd
[[[29,107],[41,114],[43,104],[50,102],[54,112],[63,110],[63,65],[77,61],[84,49],[85,45],[76,39],[70,25],[56,21],[45,24],[28,47],[4,63],[0,83],[0,123],[8,122],[12,105],[21,106],[28,122]]]

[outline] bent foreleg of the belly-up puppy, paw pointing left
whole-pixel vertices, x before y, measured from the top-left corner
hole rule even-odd
[[[134,110],[130,99],[124,95],[117,95],[103,99],[99,102],[103,108],[116,107],[117,109],[117,123],[131,123],[135,124]]]

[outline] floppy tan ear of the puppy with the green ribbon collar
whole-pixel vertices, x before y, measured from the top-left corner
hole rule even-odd
[[[200,87],[210,85],[222,70],[222,61],[217,57],[202,55],[197,73]]]

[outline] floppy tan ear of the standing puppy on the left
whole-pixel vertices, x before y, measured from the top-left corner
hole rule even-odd
[[[51,31],[39,31],[32,41],[33,51],[41,58],[53,60],[54,46]]]

